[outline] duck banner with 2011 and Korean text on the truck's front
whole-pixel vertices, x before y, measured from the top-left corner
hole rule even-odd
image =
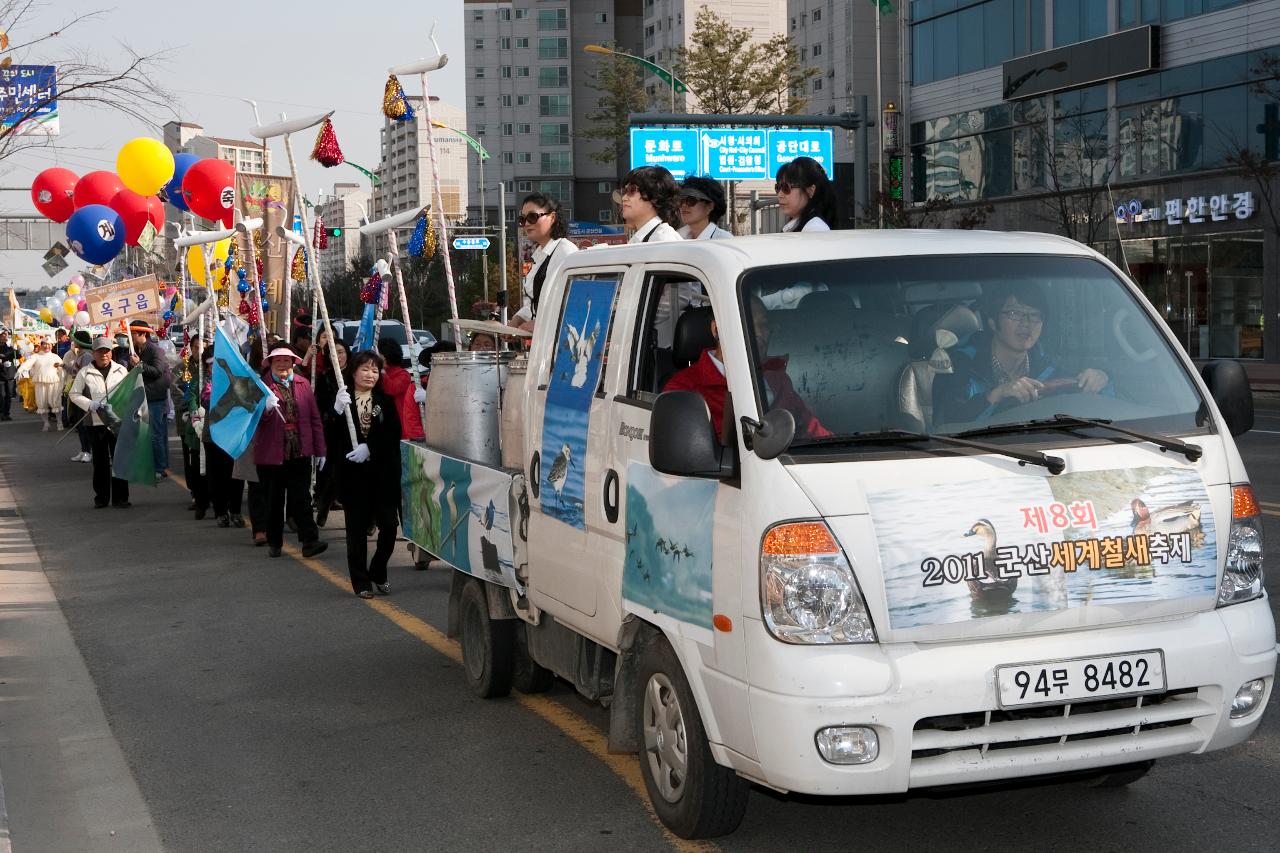
[[[992,485],[938,484],[927,502],[919,488],[867,496],[892,628],[1216,592],[1217,528],[1192,469]]]

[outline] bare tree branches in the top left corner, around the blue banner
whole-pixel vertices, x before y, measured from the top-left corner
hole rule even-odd
[[[0,111],[0,160],[49,145],[47,136],[23,133],[23,123],[54,101],[88,104],[122,113],[152,128],[159,127],[157,117],[170,111],[173,105],[173,96],[154,81],[164,54],[138,54],[127,45],[119,46],[116,53],[122,59],[115,61],[84,47],[68,46],[65,51],[56,53],[68,32],[101,22],[106,17],[105,10],[78,14],[51,32],[14,40],[14,33],[20,33],[40,9],[35,0],[0,0],[0,28],[4,33],[0,45],[5,45],[0,49],[0,67],[24,61],[54,65],[58,82],[56,91],[47,96],[22,106],[9,104],[6,110]]]

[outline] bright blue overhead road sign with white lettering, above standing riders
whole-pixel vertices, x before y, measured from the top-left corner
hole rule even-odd
[[[631,128],[631,168],[666,167],[676,181],[771,181],[796,158],[813,158],[832,174],[829,128]]]

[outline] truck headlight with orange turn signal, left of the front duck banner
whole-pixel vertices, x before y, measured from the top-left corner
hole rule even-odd
[[[822,521],[769,528],[760,544],[760,598],[769,633],[786,643],[874,643],[852,566]]]

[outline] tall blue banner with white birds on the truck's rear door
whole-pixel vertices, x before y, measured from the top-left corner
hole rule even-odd
[[[547,387],[539,502],[544,514],[580,530],[586,526],[586,429],[617,292],[617,280],[570,283]]]

